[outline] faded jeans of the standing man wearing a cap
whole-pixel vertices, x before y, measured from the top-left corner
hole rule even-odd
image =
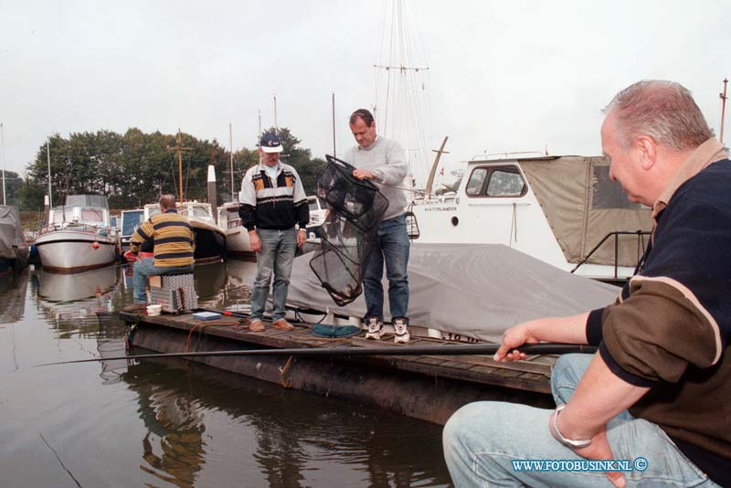
[[[284,318],[287,292],[290,288],[291,263],[297,249],[295,228],[275,230],[258,228],[261,250],[257,253],[257,277],[251,292],[251,320],[264,318],[264,308],[269,297],[271,275],[274,274],[274,309],[272,322]]]

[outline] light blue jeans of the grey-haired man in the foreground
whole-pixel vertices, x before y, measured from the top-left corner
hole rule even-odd
[[[571,398],[591,357],[564,355],[556,362],[551,389],[557,404]],[[454,486],[612,486],[604,472],[514,469],[515,460],[584,460],[553,438],[548,430],[551,413],[503,402],[476,402],[457,410],[443,433],[444,458]],[[717,486],[660,427],[626,410],[609,420],[607,437],[615,459],[647,460],[646,470],[623,473],[627,486]]]

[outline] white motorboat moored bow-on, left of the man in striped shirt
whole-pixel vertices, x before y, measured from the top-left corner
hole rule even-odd
[[[118,256],[118,235],[110,226],[107,197],[67,196],[65,206],[50,212],[34,244],[48,271],[84,271],[111,264]]]

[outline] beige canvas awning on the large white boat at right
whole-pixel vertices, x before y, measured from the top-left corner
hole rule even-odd
[[[583,260],[615,230],[652,229],[652,209],[631,203],[609,178],[609,158],[560,156],[521,159],[520,165],[568,262]],[[640,241],[646,245],[647,240]],[[635,266],[643,251],[634,236],[620,237],[619,266]],[[588,262],[614,264],[614,239]]]

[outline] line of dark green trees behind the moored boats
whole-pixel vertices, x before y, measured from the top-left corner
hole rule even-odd
[[[326,163],[313,158],[310,149],[288,128],[270,128],[281,139],[281,160],[291,164],[302,178],[307,195],[314,195],[317,177]],[[126,133],[97,131],[70,133],[68,138],[55,133],[38,147],[36,158],[27,164],[23,177],[5,172],[7,204],[21,210],[35,211],[44,206],[48,194],[48,155],[53,205],[63,203],[67,195],[100,194],[107,196],[111,208],[142,207],[157,201],[163,193],[179,194],[177,134],[143,133],[130,128]],[[207,168],[216,168],[217,204],[231,199],[231,178],[238,196],[246,170],[259,163],[256,149],[242,148],[233,153],[213,141],[200,140],[181,133],[183,195],[187,200],[207,201]],[[2,192],[2,188],[0,188]],[[0,203],[2,200],[0,199]]]

